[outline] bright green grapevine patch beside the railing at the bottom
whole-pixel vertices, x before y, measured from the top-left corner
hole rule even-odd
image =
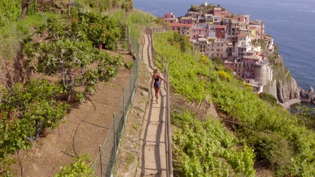
[[[200,121],[188,112],[173,114],[175,168],[185,177],[254,177],[253,150],[213,119]]]

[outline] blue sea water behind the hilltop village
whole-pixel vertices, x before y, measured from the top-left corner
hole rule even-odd
[[[133,0],[134,7],[157,17],[184,16],[191,4],[206,0]],[[249,14],[265,22],[265,31],[279,45],[284,65],[302,89],[315,86],[315,0],[214,0],[233,14]]]

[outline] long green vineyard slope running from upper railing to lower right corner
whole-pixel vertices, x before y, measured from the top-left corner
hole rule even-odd
[[[248,125],[235,127],[237,137],[254,148],[256,162],[269,167],[274,176],[315,176],[313,130],[299,125],[298,119],[282,108],[262,101],[234,77],[230,82],[218,79],[218,71],[212,64],[207,66],[200,62],[199,56],[181,53],[172,46],[168,41],[172,35],[172,32],[155,35],[154,42],[158,53],[169,63],[173,90],[195,102],[209,96],[226,115]],[[209,70],[211,83],[207,80]],[[200,79],[198,73],[207,77]]]

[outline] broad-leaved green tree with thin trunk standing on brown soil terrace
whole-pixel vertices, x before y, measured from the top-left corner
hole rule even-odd
[[[47,37],[41,42],[31,40],[25,44],[28,65],[39,73],[57,76],[67,91],[68,101],[78,87],[84,88],[76,94],[84,101],[85,94],[95,92],[95,84],[114,78],[124,65],[122,57],[112,57],[93,48],[86,35],[89,29],[82,30],[72,30],[69,25],[49,19],[47,27],[41,26],[36,31],[41,36],[47,33]]]

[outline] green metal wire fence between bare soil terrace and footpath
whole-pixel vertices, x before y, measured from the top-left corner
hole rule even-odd
[[[130,39],[128,39],[128,41],[130,41]],[[120,101],[120,105],[116,113],[113,114],[113,122],[109,128],[105,142],[103,146],[99,147],[100,152],[92,165],[94,175],[99,177],[112,176],[113,167],[116,162],[116,154],[118,152],[118,146],[121,139],[121,133],[124,129],[126,115],[136,89],[139,72],[139,43],[134,38],[132,38],[132,41],[130,42],[131,47],[128,48],[129,52],[135,57],[134,68],[130,73],[130,77],[126,86],[123,89],[123,97]]]

